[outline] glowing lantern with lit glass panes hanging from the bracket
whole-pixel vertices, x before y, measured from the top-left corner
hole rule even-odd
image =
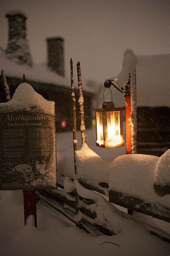
[[[124,146],[123,108],[115,108],[113,102],[103,102],[102,108],[96,108],[96,146],[114,148]]]

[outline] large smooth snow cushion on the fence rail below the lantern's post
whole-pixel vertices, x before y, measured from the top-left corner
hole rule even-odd
[[[170,207],[170,196],[160,197],[154,190],[154,175],[159,157],[127,154],[117,157],[110,165],[109,190],[129,194],[150,203]]]

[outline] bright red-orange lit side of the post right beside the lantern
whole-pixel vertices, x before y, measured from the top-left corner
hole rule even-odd
[[[130,96],[130,85],[128,94],[125,96],[125,105],[126,105],[126,154],[131,154],[131,96]]]

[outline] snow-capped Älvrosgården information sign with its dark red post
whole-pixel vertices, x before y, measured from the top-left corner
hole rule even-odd
[[[24,94],[23,94],[24,93]],[[2,190],[24,190],[24,219],[36,217],[36,191],[55,189],[55,103],[32,86],[18,86],[13,99],[0,103]]]

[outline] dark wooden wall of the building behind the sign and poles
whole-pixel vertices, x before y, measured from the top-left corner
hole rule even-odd
[[[10,88],[10,95],[13,96],[16,88],[23,82],[22,79],[6,77],[7,83]],[[41,94],[47,100],[55,102],[56,110],[56,131],[69,131],[72,130],[72,103],[71,103],[71,87],[64,87],[60,85],[46,84],[42,82],[35,82],[26,80],[26,82],[34,88],[37,93]],[[92,93],[84,92],[84,112],[85,112],[85,125],[87,129],[92,125]],[[78,89],[75,90],[76,98],[76,116],[77,116],[77,129],[80,129],[80,113],[78,104]],[[0,81],[0,102],[6,102],[4,87],[2,80]],[[66,126],[62,127],[62,122],[66,122]]]

